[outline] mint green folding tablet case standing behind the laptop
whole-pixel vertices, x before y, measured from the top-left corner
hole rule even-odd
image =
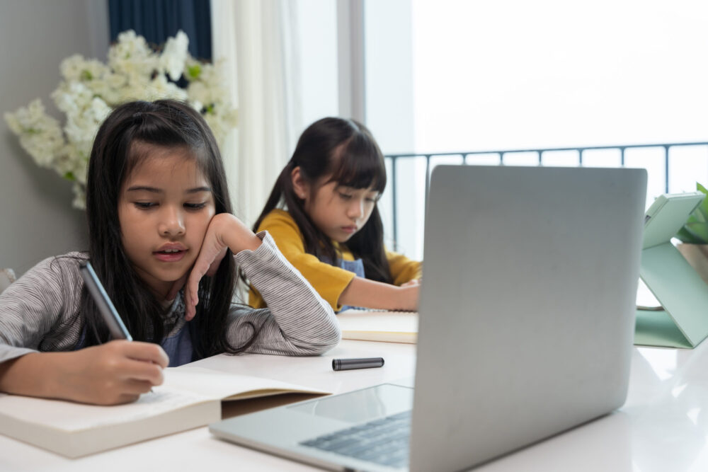
[[[663,309],[636,311],[636,345],[691,349],[708,337],[708,284],[671,243],[704,197],[661,195],[646,211],[639,276]]]

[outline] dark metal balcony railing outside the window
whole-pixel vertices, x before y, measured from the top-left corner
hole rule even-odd
[[[430,188],[430,172],[432,171],[431,162],[434,158],[445,158],[449,156],[459,156],[460,162],[464,165],[468,165],[469,158],[474,156],[498,156],[498,165],[505,165],[505,159],[513,155],[527,155],[527,154],[537,154],[537,165],[544,165],[544,156],[549,153],[557,153],[564,151],[575,151],[576,152],[576,163],[577,166],[583,166],[583,154],[586,151],[595,150],[618,150],[619,151],[619,166],[623,167],[625,165],[625,154],[628,149],[641,149],[641,148],[661,148],[663,149],[663,170],[664,170],[664,186],[665,192],[669,192],[669,155],[670,149],[675,147],[685,147],[685,146],[708,146],[708,142],[687,142],[687,143],[663,143],[663,144],[623,144],[616,146],[582,146],[582,147],[559,147],[559,148],[542,148],[542,149],[510,149],[506,151],[462,151],[462,152],[442,152],[442,153],[408,153],[408,154],[388,154],[386,157],[388,164],[390,166],[389,182],[391,185],[392,192],[392,236],[394,245],[398,241],[398,202],[396,195],[397,186],[397,175],[396,175],[396,163],[404,159],[425,159],[426,162],[426,183],[425,183],[425,195],[424,200],[426,202],[426,207],[428,204],[428,189]],[[708,159],[708,155],[707,155]]]

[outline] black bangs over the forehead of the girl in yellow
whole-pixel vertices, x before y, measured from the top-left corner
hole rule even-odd
[[[379,146],[363,134],[336,149],[331,160],[330,182],[351,188],[371,188],[382,193],[386,188],[386,165]]]

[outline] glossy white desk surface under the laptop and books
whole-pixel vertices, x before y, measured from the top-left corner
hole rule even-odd
[[[334,357],[381,355],[381,369],[333,372]],[[267,376],[335,393],[411,376],[415,346],[343,341],[323,357],[216,356],[202,367]],[[634,348],[627,403],[616,413],[476,469],[498,471],[708,471],[708,341],[695,350]],[[206,427],[81,459],[0,435],[0,471],[312,471],[222,442]]]

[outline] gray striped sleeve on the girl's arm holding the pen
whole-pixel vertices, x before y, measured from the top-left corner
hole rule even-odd
[[[81,335],[79,253],[42,260],[0,294],[0,362],[70,350]],[[79,290],[76,288],[79,287]]]

